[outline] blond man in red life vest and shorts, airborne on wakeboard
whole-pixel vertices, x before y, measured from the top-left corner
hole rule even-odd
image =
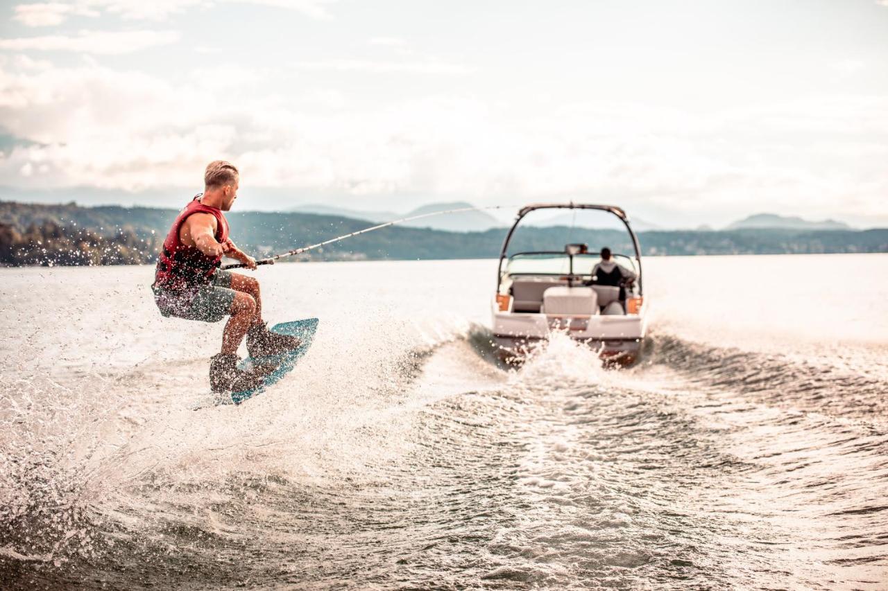
[[[218,268],[222,257],[229,256],[256,269],[256,259],[228,237],[222,213],[237,199],[240,173],[234,164],[218,160],[207,165],[203,182],[203,193],[179,212],[163,240],[151,288],[163,316],[203,322],[231,316],[222,332],[222,351],[210,361],[210,387],[222,393],[250,390],[264,374],[237,368],[237,348],[244,335],[254,358],[296,349],[300,341],[268,330],[258,280]]]

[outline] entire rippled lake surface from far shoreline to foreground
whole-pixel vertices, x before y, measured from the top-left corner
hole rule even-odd
[[[313,348],[197,412],[151,269],[0,270],[0,587],[888,587],[888,256],[646,259],[625,371],[498,366],[495,269],[266,268]]]

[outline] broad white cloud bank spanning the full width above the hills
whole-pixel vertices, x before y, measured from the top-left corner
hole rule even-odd
[[[206,162],[226,158],[245,187],[479,202],[594,195],[689,218],[705,208],[866,216],[888,193],[884,97],[710,115],[598,101],[519,112],[468,98],[337,108],[337,89],[275,95],[279,73],[233,84],[247,73],[226,72],[195,73],[199,83],[182,87],[94,63],[0,61],[0,131],[27,140],[0,156],[0,177],[22,187],[190,186]]]

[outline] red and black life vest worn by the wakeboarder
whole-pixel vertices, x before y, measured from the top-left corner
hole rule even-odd
[[[216,272],[219,261],[222,260],[221,255],[204,255],[198,248],[183,244],[178,236],[186,217],[194,213],[208,213],[216,217],[216,240],[228,240],[228,221],[222,215],[222,210],[204,205],[200,198],[201,195],[198,194],[178,213],[170,233],[163,240],[163,249],[157,257],[153,287],[178,290],[205,285]]]

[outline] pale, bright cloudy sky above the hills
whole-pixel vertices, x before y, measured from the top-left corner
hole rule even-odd
[[[0,200],[888,226],[888,0],[0,2]]]

